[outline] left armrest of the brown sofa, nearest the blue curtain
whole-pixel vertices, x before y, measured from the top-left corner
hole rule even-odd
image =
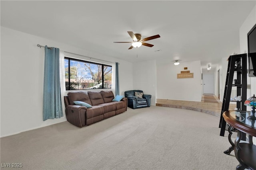
[[[87,107],[70,104],[66,107],[67,121],[77,127],[83,127],[86,124]]]

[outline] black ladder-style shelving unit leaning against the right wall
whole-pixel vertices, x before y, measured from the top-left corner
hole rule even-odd
[[[234,72],[236,72],[236,78],[234,78]],[[233,84],[234,79],[237,80],[236,84]],[[236,87],[236,96],[241,96],[241,101],[230,100],[232,87]],[[222,101],[222,109],[220,114],[220,136],[224,136],[226,129],[226,121],[223,119],[222,114],[229,108],[230,102],[236,102],[236,107],[239,110],[246,111],[244,102],[247,97],[247,54],[231,55],[228,58],[228,70],[226,76],[225,90]],[[242,137],[245,140],[245,135]]]

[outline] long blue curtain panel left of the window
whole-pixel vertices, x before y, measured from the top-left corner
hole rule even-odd
[[[43,120],[63,117],[60,97],[60,49],[44,48]]]

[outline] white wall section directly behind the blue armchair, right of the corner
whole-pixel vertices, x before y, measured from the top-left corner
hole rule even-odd
[[[156,61],[133,64],[133,88],[151,94],[151,105],[156,105]]]

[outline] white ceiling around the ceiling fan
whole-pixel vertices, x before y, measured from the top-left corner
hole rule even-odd
[[[240,53],[239,29],[256,1],[0,1],[1,26],[130,62],[216,64]],[[127,31],[154,47],[133,48]],[[38,43],[38,42],[35,42]],[[47,44],[50,46],[50,44]],[[156,50],[160,50],[156,52]],[[138,57],[137,57],[138,55]]]

